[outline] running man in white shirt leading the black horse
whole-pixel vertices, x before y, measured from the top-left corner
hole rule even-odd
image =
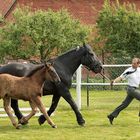
[[[117,118],[119,113],[125,109],[133,99],[137,99],[140,101],[140,90],[138,89],[140,84],[140,59],[133,58],[132,66],[127,68],[119,77],[111,82],[111,85],[114,83],[120,82],[122,80],[128,81],[128,86],[126,88],[127,95],[124,101],[107,117],[109,119],[110,124],[113,124],[114,118]]]

